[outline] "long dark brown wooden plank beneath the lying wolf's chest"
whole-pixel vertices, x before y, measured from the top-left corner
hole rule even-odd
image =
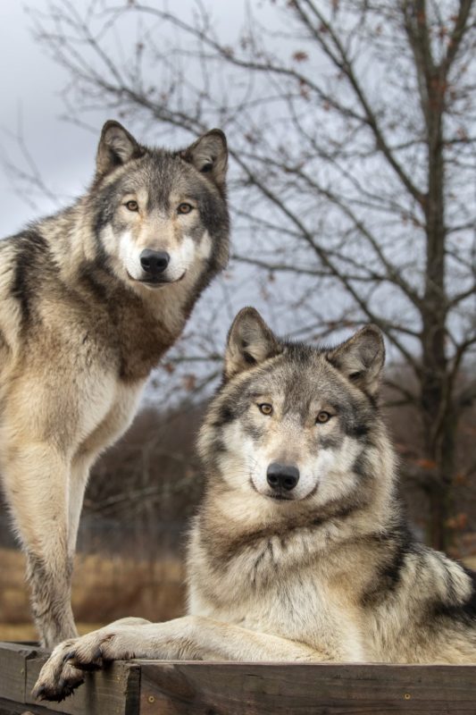
[[[476,715],[476,666],[138,662],[140,715]]]

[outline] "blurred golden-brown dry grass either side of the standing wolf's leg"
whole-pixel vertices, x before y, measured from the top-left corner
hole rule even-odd
[[[0,549],[0,640],[35,640],[21,551]],[[72,606],[79,632],[124,616],[166,620],[185,611],[179,559],[157,561],[101,555],[76,557]]]

